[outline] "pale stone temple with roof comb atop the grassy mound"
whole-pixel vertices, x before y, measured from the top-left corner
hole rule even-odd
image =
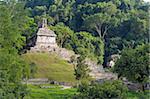
[[[55,51],[57,47],[56,34],[47,27],[47,19],[43,19],[42,26],[37,32],[35,46],[31,51]]]

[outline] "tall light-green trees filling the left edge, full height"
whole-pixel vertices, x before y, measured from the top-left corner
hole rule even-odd
[[[23,98],[26,86],[21,84],[29,76],[28,64],[18,55],[24,45],[24,10],[20,3],[8,1],[0,5],[0,98]]]

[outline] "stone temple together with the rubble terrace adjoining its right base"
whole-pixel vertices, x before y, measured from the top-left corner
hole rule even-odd
[[[29,52],[53,52],[64,60],[70,61],[74,51],[60,48],[56,43],[57,35],[47,26],[47,19],[43,19],[42,26],[37,32],[35,46],[31,47]]]

